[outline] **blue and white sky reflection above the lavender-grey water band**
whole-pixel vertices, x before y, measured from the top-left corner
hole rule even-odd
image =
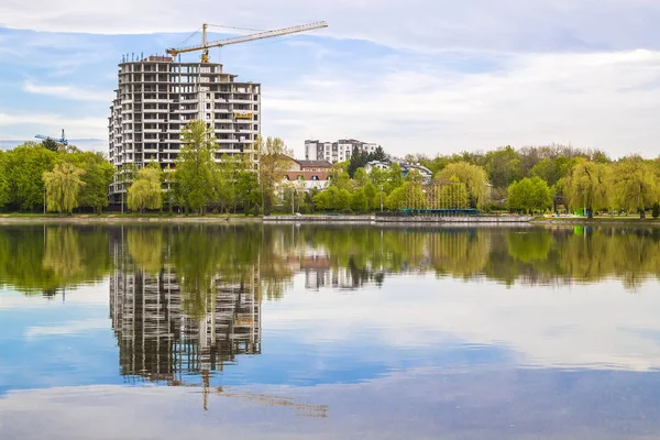
[[[382,288],[304,289],[263,304],[262,354],[216,385],[359,383],[411,369],[649,371],[660,366],[660,295],[619,282],[576,288],[388,277]],[[0,296],[0,392],[122,384],[108,283],[48,300]],[[199,377],[185,381],[199,383]]]

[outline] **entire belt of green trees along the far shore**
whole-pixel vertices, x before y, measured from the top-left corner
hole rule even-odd
[[[477,209],[525,213],[636,212],[660,217],[660,160],[630,155],[612,160],[604,152],[571,146],[510,146],[487,153],[408,155],[407,163],[428,168],[404,172],[397,162],[387,169],[365,170],[383,150],[356,154],[336,164],[327,188],[284,179],[292,155],[280,139],[256,141],[256,155],[219,158],[206,124],[191,122],[175,166],[130,166],[116,174],[101,154],[52,151],[26,143],[0,153],[0,209],[56,212],[100,212],[108,206],[113,178],[124,184],[128,208],[146,212],[270,215],[272,212],[366,213],[399,209]],[[256,163],[260,166],[256,167]],[[258,169],[258,170],[255,170]]]

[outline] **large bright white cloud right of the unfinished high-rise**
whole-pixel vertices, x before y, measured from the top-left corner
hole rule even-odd
[[[264,88],[264,130],[298,154],[310,136],[346,135],[397,154],[557,142],[658,155],[660,52],[522,54],[501,67],[311,73],[282,90]]]

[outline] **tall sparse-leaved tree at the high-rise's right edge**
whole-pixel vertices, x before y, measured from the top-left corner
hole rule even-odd
[[[279,138],[268,138],[265,141],[258,136],[254,142],[258,153],[258,185],[262,194],[262,209],[266,216],[273,210],[275,190],[284,179],[285,173],[292,165],[289,151]]]

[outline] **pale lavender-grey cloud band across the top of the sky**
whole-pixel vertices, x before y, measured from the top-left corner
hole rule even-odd
[[[180,13],[173,0],[3,1],[4,25],[54,32],[191,32],[202,22],[274,29],[327,20],[319,35],[364,38],[394,47],[550,50],[659,47],[654,0],[253,0],[227,8],[210,0]]]

